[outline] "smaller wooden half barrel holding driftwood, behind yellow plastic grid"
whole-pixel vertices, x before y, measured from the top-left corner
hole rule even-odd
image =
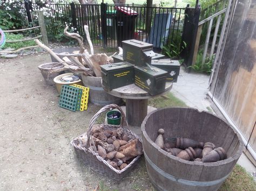
[[[122,98],[107,94],[102,87],[102,77],[92,77],[82,75],[82,80],[85,87],[89,87],[89,101],[95,105],[109,105],[109,104],[120,104]]]

